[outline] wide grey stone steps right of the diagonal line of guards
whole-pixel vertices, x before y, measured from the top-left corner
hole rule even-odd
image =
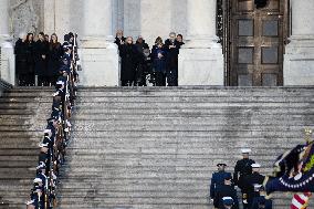
[[[81,88],[73,121],[60,209],[208,209],[216,164],[232,170],[251,147],[269,174],[303,143],[314,87]],[[274,208],[291,199],[275,195]]]

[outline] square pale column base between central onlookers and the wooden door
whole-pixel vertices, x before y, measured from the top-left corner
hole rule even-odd
[[[179,85],[224,85],[221,48],[181,49]]]

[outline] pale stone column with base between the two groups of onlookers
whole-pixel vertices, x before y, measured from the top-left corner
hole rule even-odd
[[[113,43],[112,0],[84,0],[81,81],[85,86],[117,86],[119,56]]]

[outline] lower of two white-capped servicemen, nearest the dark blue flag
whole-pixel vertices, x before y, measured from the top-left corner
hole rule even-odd
[[[248,207],[251,208],[254,197],[260,196],[260,187],[263,185],[265,176],[260,174],[260,164],[252,164],[252,174],[245,177],[243,182],[245,192],[248,194]]]

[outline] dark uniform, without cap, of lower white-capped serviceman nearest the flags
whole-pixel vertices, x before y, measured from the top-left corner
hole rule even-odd
[[[259,173],[253,173],[245,177],[245,181],[243,182],[243,190],[248,194],[248,205],[249,208],[252,206],[253,199],[260,196],[259,191],[254,191],[254,185],[262,185],[265,177]]]

